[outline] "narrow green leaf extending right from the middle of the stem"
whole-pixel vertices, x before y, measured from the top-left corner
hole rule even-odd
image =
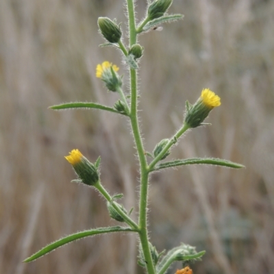
[[[245,167],[242,164],[237,164],[235,162],[230,162],[228,160],[223,160],[219,158],[189,158],[158,164],[157,166],[155,166],[154,170],[158,171],[159,169],[166,169],[174,166],[184,166],[186,164],[213,164],[215,166],[231,167],[232,169],[242,169],[243,167]]]

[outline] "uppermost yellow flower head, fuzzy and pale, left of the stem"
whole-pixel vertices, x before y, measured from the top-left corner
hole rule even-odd
[[[105,86],[108,90],[113,92],[117,91],[118,88],[121,88],[123,82],[122,78],[119,76],[116,71],[119,71],[119,67],[115,64],[105,61],[102,64],[97,64],[96,68],[96,77],[101,78],[105,82]]]

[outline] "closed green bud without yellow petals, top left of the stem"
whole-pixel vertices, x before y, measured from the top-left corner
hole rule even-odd
[[[119,42],[122,36],[122,32],[119,25],[116,25],[108,17],[99,17],[98,26],[103,37],[108,42],[116,43]]]

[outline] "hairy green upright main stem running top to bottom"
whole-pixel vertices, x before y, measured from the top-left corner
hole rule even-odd
[[[127,12],[129,19],[129,46],[136,44],[137,32],[134,14],[134,0],[127,0]],[[131,88],[131,111],[130,119],[132,123],[132,132],[138,152],[140,161],[140,203],[139,203],[139,236],[142,245],[142,253],[145,257],[147,272],[155,274],[153,260],[149,249],[149,236],[147,233],[147,190],[149,171],[147,169],[147,159],[145,157],[145,149],[142,145],[142,138],[140,135],[140,128],[138,125],[137,114],[137,73],[134,69],[130,69],[130,88]]]

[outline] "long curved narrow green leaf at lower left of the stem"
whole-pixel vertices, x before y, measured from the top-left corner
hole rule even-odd
[[[111,233],[111,232],[135,232],[134,229],[130,227],[99,227],[96,229],[89,229],[85,230],[83,232],[77,232],[75,234],[71,234],[69,236],[66,236],[64,238],[61,238],[60,240],[56,240],[55,242],[51,242],[51,244],[47,245],[46,247],[43,247],[40,249],[40,251],[34,253],[29,258],[25,259],[23,262],[31,262],[33,260],[36,260],[45,254],[53,251],[54,249],[57,249],[58,247],[62,247],[62,245],[66,245],[69,242],[73,242],[74,240],[78,240],[80,238],[85,238],[89,236],[94,236],[97,234],[105,234],[105,233]]]

